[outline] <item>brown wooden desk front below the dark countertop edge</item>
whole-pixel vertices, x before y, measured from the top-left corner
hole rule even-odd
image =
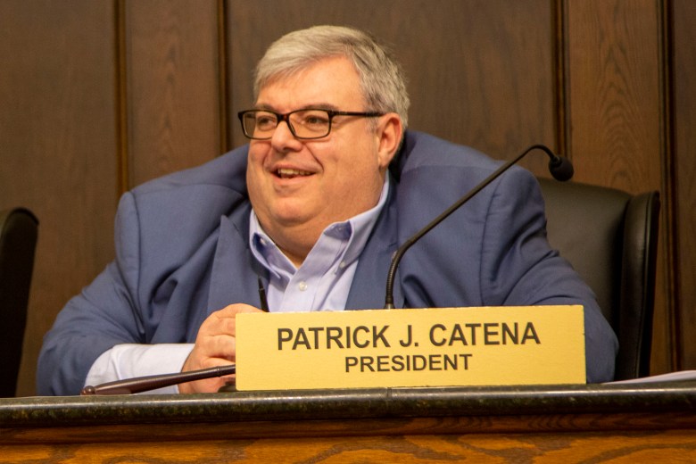
[[[691,417],[410,418],[0,431],[0,462],[644,462],[696,459]],[[543,431],[539,425],[544,424]],[[485,427],[488,425],[488,427]],[[494,425],[495,429],[491,427]],[[482,427],[483,426],[483,427]],[[680,428],[684,427],[684,428]],[[20,433],[18,433],[20,432]]]

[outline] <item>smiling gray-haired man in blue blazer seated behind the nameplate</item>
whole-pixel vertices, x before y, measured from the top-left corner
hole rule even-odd
[[[399,244],[497,164],[405,132],[392,57],[360,31],[305,29],[261,59],[248,146],[123,196],[116,260],[47,334],[39,394],[234,362],[235,315],[380,308]],[[588,381],[613,377],[616,337],[549,247],[543,200],[510,170],[410,249],[397,307],[580,303]],[[224,380],[168,392],[214,392]]]

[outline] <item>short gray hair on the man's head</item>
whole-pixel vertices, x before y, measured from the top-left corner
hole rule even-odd
[[[402,68],[385,46],[358,29],[314,26],[280,37],[256,67],[254,99],[269,81],[289,77],[332,56],[345,56],[355,66],[367,110],[396,112],[406,128],[410,101]]]

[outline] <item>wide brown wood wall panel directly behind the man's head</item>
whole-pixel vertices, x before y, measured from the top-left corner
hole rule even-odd
[[[552,13],[548,0],[232,2],[230,107],[253,104],[252,70],[273,40],[315,24],[348,25],[394,48],[410,79],[411,128],[498,158],[555,145]],[[233,145],[246,143],[238,121],[230,124]]]

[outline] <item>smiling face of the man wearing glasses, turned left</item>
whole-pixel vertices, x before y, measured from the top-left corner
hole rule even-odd
[[[261,88],[256,102],[256,108],[279,113],[308,107],[372,110],[366,108],[356,70],[343,57],[272,80]],[[281,249],[294,252],[288,240],[314,244],[329,224],[377,204],[395,151],[385,144],[385,128],[393,131],[392,126],[398,126],[401,137],[401,125],[394,119],[394,114],[373,120],[336,116],[331,133],[316,140],[297,139],[286,122],[280,122],[269,140],[252,140],[246,173],[249,196],[261,226]],[[377,122],[377,129],[370,122]]]

